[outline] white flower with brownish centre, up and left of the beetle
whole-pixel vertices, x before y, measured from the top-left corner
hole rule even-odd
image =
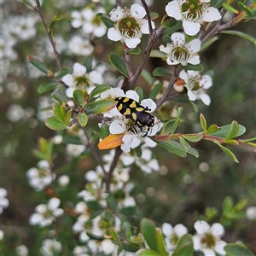
[[[86,73],[86,67],[79,63],[73,65],[73,73],[67,74],[62,81],[69,86],[66,91],[68,97],[73,97],[75,87],[83,88],[88,93],[95,88],[94,84],[102,83],[102,74],[96,71]]]

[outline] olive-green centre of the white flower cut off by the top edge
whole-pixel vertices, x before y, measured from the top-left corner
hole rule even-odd
[[[200,0],[187,0],[181,10],[186,20],[198,20],[202,15]]]

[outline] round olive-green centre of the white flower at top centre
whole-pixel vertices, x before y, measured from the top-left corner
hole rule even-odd
[[[125,17],[119,20],[118,29],[125,38],[136,38],[140,32],[140,25],[135,18]]]

